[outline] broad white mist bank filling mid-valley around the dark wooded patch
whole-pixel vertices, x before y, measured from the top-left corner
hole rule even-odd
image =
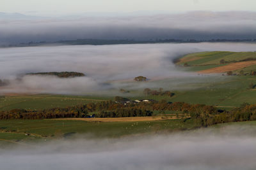
[[[185,43],[154,45],[36,46],[0,49],[0,79],[10,85],[0,93],[109,94],[111,89],[186,89],[188,82],[218,81],[182,71],[173,60],[191,52],[253,51],[253,43]],[[76,71],[77,78],[26,75],[50,71]],[[136,76],[150,81],[134,82]],[[158,81],[158,80],[166,81]],[[113,92],[111,92],[113,93]],[[112,94],[113,95],[113,94]]]

